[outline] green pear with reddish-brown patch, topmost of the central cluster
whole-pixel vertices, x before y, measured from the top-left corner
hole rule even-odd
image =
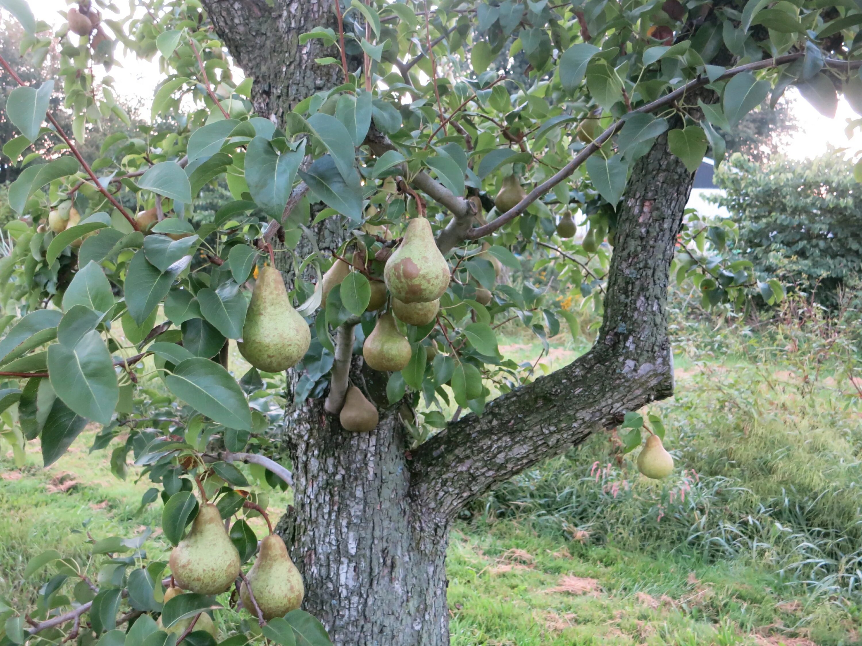
[[[427,303],[443,295],[449,287],[449,264],[437,249],[428,220],[409,221],[383,276],[390,294],[405,303]]]

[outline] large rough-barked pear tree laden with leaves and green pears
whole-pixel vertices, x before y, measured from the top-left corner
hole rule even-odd
[[[172,548],[148,557],[147,530],[35,556],[3,644],[447,644],[472,500],[603,428],[669,475],[638,411],[673,393],[671,281],[708,307],[784,294],[727,253],[733,224],[686,214],[704,156],[790,86],[862,109],[862,12],[839,0],[80,0],[57,30],[0,7],[23,56],[60,59],[38,84],[0,59],[22,168],[0,438],[47,466],[99,425]],[[159,66],[150,122],[84,158],[128,121],[121,54]],[[231,199],[203,218],[212,183]],[[593,344],[540,374],[504,325],[543,354]],[[277,523],[263,485],[292,488]]]

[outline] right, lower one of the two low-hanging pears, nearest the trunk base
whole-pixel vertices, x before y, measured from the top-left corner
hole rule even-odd
[[[303,603],[303,577],[290,560],[284,541],[277,534],[270,534],[260,541],[258,558],[248,570],[246,578],[252,585],[254,600],[258,602],[266,621],[284,617]],[[240,599],[246,610],[254,614],[254,604],[245,581],[240,585]]]

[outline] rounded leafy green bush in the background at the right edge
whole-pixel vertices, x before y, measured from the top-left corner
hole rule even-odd
[[[715,173],[739,227],[736,246],[754,269],[827,303],[862,266],[862,193],[853,165],[835,151],[761,166],[734,154]]]

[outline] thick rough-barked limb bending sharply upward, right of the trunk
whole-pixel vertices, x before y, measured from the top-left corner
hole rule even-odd
[[[496,484],[672,394],[665,303],[691,181],[666,135],[659,137],[634,166],[619,208],[596,345],[422,444],[412,466],[415,500],[452,518]]]

